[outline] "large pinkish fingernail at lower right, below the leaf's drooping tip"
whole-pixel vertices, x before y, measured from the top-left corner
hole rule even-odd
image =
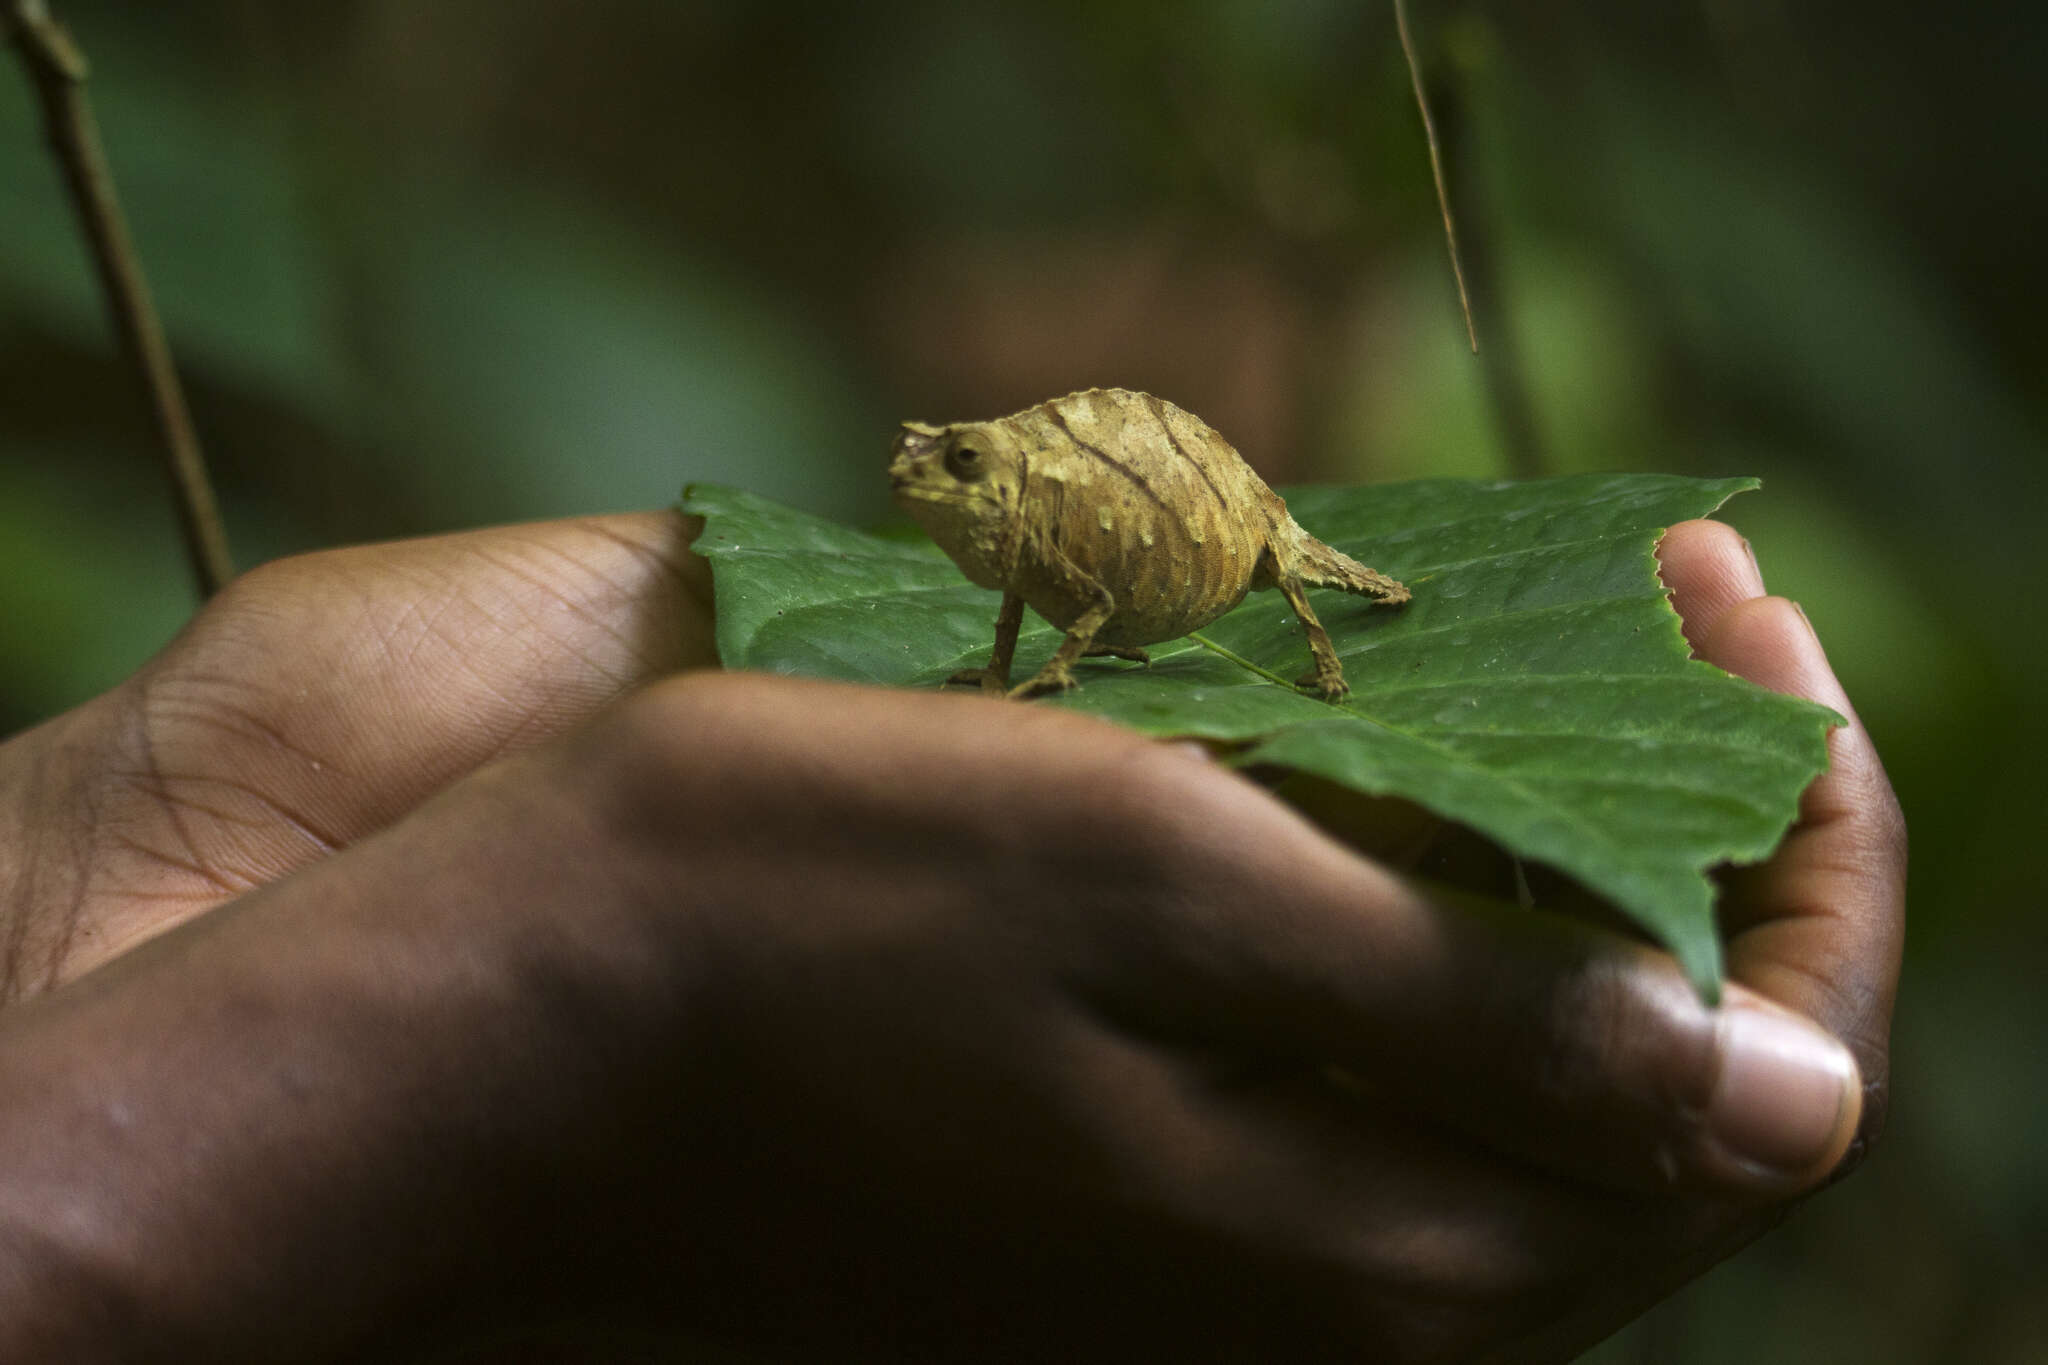
[[[1731,1009],[1720,1017],[1720,1076],[1706,1121],[1737,1160],[1802,1175],[1841,1142],[1858,1085],[1855,1058],[1821,1029]]]

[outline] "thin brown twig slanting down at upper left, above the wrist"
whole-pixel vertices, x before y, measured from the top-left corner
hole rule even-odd
[[[164,327],[156,317],[156,305],[150,303],[150,282],[143,278],[141,260],[135,256],[135,244],[115,199],[113,172],[106,168],[92,104],[86,100],[86,57],[63,25],[51,18],[43,0],[12,0],[8,37],[20,51],[29,80],[43,102],[43,127],[63,166],[80,227],[92,246],[106,311],[150,395],[150,411],[164,442],[178,505],[178,526],[184,532],[184,551],[193,561],[199,593],[211,598],[233,577],[227,532],[213,499],[213,485],[207,481],[207,463],[193,434],[184,391],[178,387],[178,370],[170,362]]]

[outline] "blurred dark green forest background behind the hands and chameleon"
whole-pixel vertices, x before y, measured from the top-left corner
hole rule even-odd
[[[59,4],[242,563],[885,514],[901,417],[1163,393],[1272,479],[1763,475],[1913,829],[1892,1132],[1595,1361],[2048,1361],[2048,20],[2034,0]],[[0,733],[190,612],[0,74]]]

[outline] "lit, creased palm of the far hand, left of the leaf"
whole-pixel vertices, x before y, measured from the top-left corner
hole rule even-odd
[[[49,982],[354,843],[647,677],[711,663],[674,512],[301,555],[236,579],[76,712],[94,896]]]

